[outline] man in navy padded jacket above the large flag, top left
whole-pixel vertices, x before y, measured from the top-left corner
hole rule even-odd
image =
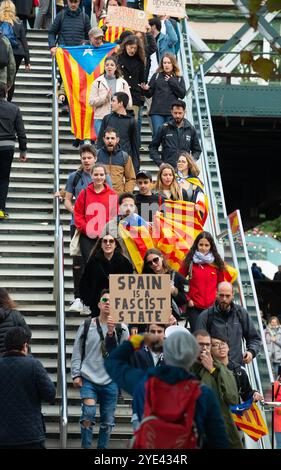
[[[67,0],[67,8],[56,16],[49,29],[51,54],[56,54],[57,42],[59,46],[80,46],[81,41],[88,39],[90,29],[90,19],[82,12],[80,0]]]

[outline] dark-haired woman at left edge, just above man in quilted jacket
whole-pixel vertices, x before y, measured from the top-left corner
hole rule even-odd
[[[0,287],[0,354],[5,351],[4,337],[13,326],[29,329],[22,314],[17,310],[16,303],[6,289]]]

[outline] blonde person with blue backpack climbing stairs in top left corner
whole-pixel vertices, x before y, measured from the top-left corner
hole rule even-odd
[[[0,31],[6,38],[9,39],[16,63],[13,84],[8,91],[8,101],[12,101],[15,89],[16,74],[20,64],[24,59],[25,71],[29,71],[30,57],[24,26],[16,16],[15,5],[11,0],[5,0],[0,5]]]

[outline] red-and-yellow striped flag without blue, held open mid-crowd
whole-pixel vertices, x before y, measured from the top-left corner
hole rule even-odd
[[[202,220],[193,202],[166,200],[165,215],[158,212],[154,217],[152,238],[168,265],[178,271],[202,230]]]

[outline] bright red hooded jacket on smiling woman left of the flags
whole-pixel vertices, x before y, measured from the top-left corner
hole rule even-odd
[[[76,228],[89,238],[100,236],[104,225],[115,217],[118,210],[117,194],[106,183],[97,193],[93,183],[80,192],[74,205]]]

